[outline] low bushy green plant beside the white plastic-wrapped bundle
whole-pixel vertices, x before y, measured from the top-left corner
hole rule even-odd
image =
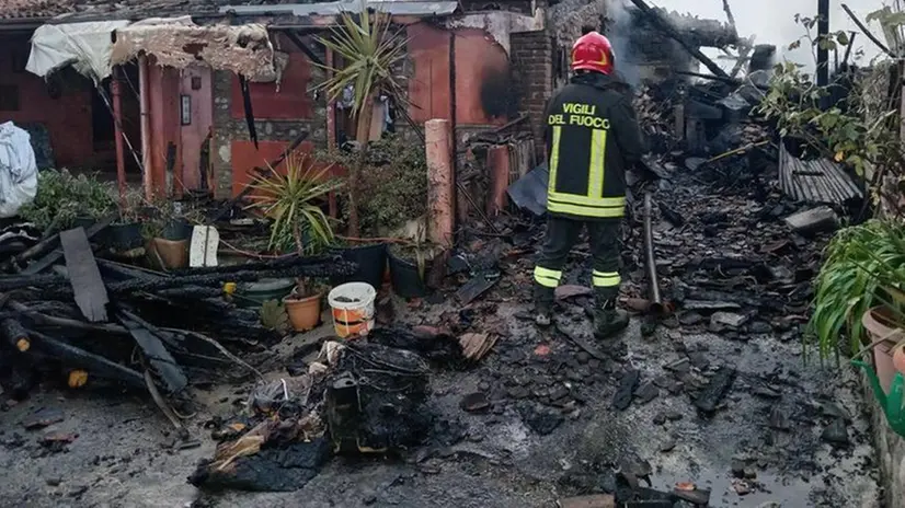
[[[98,220],[113,213],[113,184],[94,175],[48,169],[38,174],[37,195],[20,216],[45,231],[58,231],[72,227],[79,217]]]

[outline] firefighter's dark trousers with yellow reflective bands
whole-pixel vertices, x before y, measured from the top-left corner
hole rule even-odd
[[[594,259],[592,284],[597,300],[604,304],[615,304],[619,296],[619,232],[621,219],[603,221],[580,221],[551,217],[547,220],[540,258],[535,266],[535,299],[538,303],[552,303],[553,293],[562,280],[569,252],[587,228],[591,240],[591,255]]]

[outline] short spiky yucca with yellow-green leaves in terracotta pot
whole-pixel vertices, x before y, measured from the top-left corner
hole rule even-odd
[[[268,166],[249,184],[253,189],[249,207],[272,220],[270,250],[313,254],[333,241],[330,219],[317,200],[340,188],[341,183],[329,178],[331,166],[316,171],[306,161],[303,155],[290,155],[285,162],[286,174]]]

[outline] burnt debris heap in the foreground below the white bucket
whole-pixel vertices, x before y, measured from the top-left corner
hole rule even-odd
[[[190,482],[207,490],[295,490],[334,454],[399,454],[460,439],[431,407],[424,348],[411,335],[392,335],[381,334],[414,350],[328,342],[308,373],[260,384],[240,415],[209,423],[220,443]],[[455,359],[462,360],[460,350]]]

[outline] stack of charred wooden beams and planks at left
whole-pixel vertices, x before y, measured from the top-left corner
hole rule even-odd
[[[239,356],[264,350],[279,334],[261,324],[259,312],[238,308],[231,287],[354,269],[334,258],[289,256],[152,272],[93,242],[108,223],[22,242],[0,261],[13,273],[0,276],[0,383],[13,399],[42,381],[113,383],[150,391],[167,405],[190,383],[251,376]]]

